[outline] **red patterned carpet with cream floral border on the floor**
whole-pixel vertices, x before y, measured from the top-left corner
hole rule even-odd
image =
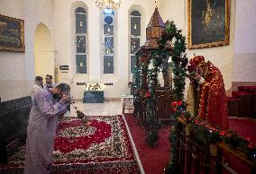
[[[62,117],[55,138],[54,166],[58,174],[140,173],[122,116]],[[5,173],[23,173],[24,147],[9,158]],[[0,170],[1,171],[1,170]]]

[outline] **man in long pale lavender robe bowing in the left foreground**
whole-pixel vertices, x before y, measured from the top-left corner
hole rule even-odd
[[[50,173],[58,115],[66,112],[65,102],[69,100],[69,96],[63,95],[57,102],[54,96],[69,90],[67,86],[61,83],[34,95],[27,127],[25,174]]]

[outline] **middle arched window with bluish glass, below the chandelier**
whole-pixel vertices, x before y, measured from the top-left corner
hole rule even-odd
[[[114,11],[103,11],[104,74],[114,74]]]

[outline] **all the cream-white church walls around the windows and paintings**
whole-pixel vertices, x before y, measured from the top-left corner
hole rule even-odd
[[[157,1],[163,21],[173,20],[178,29],[187,36],[187,0]],[[76,74],[74,9],[79,5],[87,8],[88,22],[88,74]],[[218,66],[224,74],[226,90],[231,83],[255,82],[255,34],[256,13],[254,0],[231,2],[230,44],[217,48],[187,50],[187,57],[193,54],[204,55]],[[154,2],[149,0],[123,0],[116,13],[115,69],[114,75],[103,75],[102,29],[100,10],[92,0],[1,0],[0,13],[24,20],[25,53],[0,51],[0,97],[2,100],[20,98],[30,93],[34,78],[34,32],[39,23],[44,23],[53,38],[57,65],[69,65],[68,80],[74,78],[71,85],[74,98],[82,99],[85,86],[76,82],[114,83],[105,87],[106,98],[119,98],[129,92],[129,10],[132,6],[142,8],[142,39],[145,39],[145,27],[154,11]],[[244,11],[246,9],[246,11]],[[246,13],[245,13],[246,12]]]

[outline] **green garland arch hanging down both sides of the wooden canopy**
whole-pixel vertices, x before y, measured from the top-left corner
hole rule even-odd
[[[169,43],[171,43],[171,49],[169,48]],[[159,40],[159,48],[151,52],[151,63],[153,67],[148,71],[148,78],[150,79],[151,86],[151,96],[149,97],[148,105],[150,106],[150,125],[151,132],[147,137],[147,142],[149,144],[154,144],[158,140],[157,132],[157,121],[155,117],[156,109],[156,99],[154,99],[155,87],[158,85],[158,74],[160,72],[160,67],[168,62],[169,57],[172,60],[172,71],[174,74],[174,100],[184,100],[185,91],[185,80],[187,77],[187,56],[186,56],[186,39],[181,34],[181,30],[177,30],[174,22],[168,22],[166,29],[163,31],[161,39]],[[173,129],[173,131],[175,128]],[[175,138],[174,138],[175,139]],[[172,142],[172,151],[175,151],[176,145]]]

